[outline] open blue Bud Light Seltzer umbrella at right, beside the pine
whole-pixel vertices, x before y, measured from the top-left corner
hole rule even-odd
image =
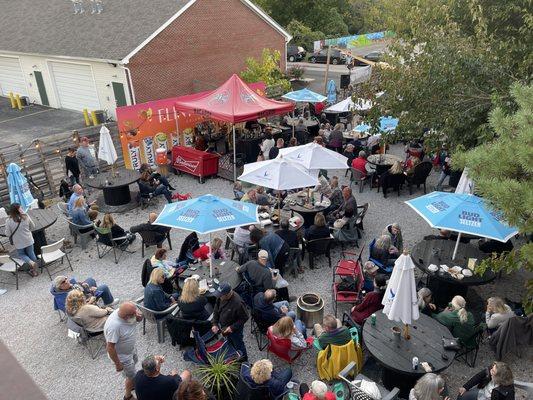
[[[432,192],[406,201],[432,228],[459,232],[452,259],[462,233],[507,242],[518,233],[498,211],[473,194]]]

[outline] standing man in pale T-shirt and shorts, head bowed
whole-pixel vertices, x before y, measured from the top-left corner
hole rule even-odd
[[[115,364],[116,371],[122,372],[126,378],[124,400],[133,399],[131,392],[137,364],[137,322],[142,321],[142,318],[135,303],[127,301],[111,313],[104,325],[107,355]]]

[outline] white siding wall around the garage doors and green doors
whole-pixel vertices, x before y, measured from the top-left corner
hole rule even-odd
[[[14,56],[14,54],[2,53],[0,56]],[[43,75],[44,84],[46,86],[46,93],[48,95],[48,100],[51,107],[59,107],[59,101],[57,99],[57,91],[54,87],[53,78],[51,77],[51,62],[74,62],[84,65],[90,65],[94,81],[96,84],[96,92],[98,93],[98,100],[100,102],[100,107],[104,110],[107,110],[109,115],[113,118],[116,118],[115,114],[115,97],[113,95],[113,87],[111,82],[120,82],[124,85],[124,91],[126,93],[126,100],[128,104],[131,103],[128,80],[126,73],[123,68],[117,66],[113,67],[112,65],[105,62],[95,62],[95,61],[84,61],[84,60],[66,60],[61,58],[53,57],[40,57],[40,56],[29,56],[29,55],[17,55],[20,58],[20,64],[22,66],[22,71],[24,73],[24,78],[26,79],[28,85],[28,97],[31,102],[41,103],[41,97],[39,95],[39,89],[37,88],[37,83],[35,77],[33,76],[33,71],[41,71]],[[30,75],[31,74],[31,75]],[[107,86],[109,85],[109,87]]]

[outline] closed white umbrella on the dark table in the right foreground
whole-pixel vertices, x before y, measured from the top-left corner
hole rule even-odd
[[[409,339],[409,325],[420,317],[417,304],[415,264],[411,256],[404,251],[394,263],[387,290],[383,296],[383,313],[391,321],[405,325],[404,337]]]

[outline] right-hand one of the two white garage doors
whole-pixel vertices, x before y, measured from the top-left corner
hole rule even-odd
[[[52,74],[59,107],[69,110],[98,110],[100,102],[89,65],[53,62]]]

